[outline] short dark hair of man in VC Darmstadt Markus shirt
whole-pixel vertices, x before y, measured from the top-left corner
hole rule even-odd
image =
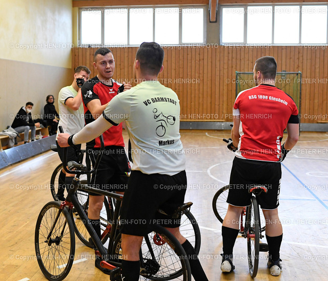
[[[157,75],[163,64],[164,50],[156,42],[144,42],[140,45],[135,59],[140,62],[142,74]]]

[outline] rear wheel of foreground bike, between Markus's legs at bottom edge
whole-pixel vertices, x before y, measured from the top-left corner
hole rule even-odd
[[[165,243],[156,245],[153,239],[155,235],[160,235]],[[150,243],[147,244],[146,240]],[[117,262],[121,261],[120,245],[121,233],[116,236],[111,254]],[[191,280],[191,269],[185,250],[171,232],[159,225],[154,225],[153,231],[142,241],[140,268],[140,276],[146,280]]]

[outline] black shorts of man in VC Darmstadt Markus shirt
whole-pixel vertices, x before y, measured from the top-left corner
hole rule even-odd
[[[179,227],[180,218],[172,219],[172,214],[184,203],[186,190],[186,171],[168,176],[133,170],[122,203],[122,233],[144,236],[151,232],[153,224]],[[168,215],[159,213],[158,209]]]

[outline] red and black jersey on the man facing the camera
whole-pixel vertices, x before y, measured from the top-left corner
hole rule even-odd
[[[95,76],[83,84],[83,87],[81,88],[81,93],[86,124],[89,124],[90,122],[94,121],[92,114],[86,106],[89,101],[93,99],[99,99],[101,105],[103,105],[108,103],[113,97],[117,95],[117,90],[120,87],[121,83],[118,83],[113,79],[112,82],[113,87],[109,87],[108,85],[101,83],[98,77]],[[105,146],[124,146],[124,140],[122,137],[122,123],[120,123],[118,126],[110,127],[106,132],[103,133],[103,137]],[[88,147],[99,148],[99,137],[89,142],[87,145]]]

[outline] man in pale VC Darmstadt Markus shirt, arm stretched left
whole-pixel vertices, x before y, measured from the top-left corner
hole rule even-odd
[[[183,204],[187,189],[186,160],[179,134],[179,100],[176,93],[157,81],[163,70],[163,57],[164,51],[157,43],[142,43],[134,62],[135,77],[140,83],[115,96],[103,115],[79,133],[59,134],[58,143],[64,147],[87,142],[110,126],[126,121],[133,167],[120,216],[124,223],[121,226],[122,256],[125,257],[122,279],[139,280],[142,236],[150,232],[150,225],[156,219],[156,222],[167,222],[162,225],[185,249],[194,279],[206,281],[194,248],[179,232],[179,224],[157,212],[163,209],[172,214]],[[158,188],[160,186],[163,188]]]

